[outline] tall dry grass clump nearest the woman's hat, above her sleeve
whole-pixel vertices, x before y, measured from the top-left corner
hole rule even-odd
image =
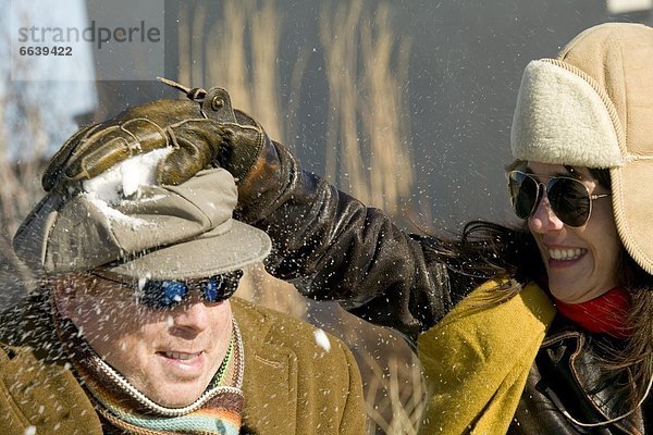
[[[365,0],[322,3],[319,28],[332,109],[325,175],[398,214],[414,184],[402,88],[410,40],[395,37],[391,15],[383,2],[371,11]]]

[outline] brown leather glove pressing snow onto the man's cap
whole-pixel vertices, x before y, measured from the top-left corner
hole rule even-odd
[[[134,156],[171,147],[158,163],[157,184],[177,185],[198,171],[221,166],[241,178],[269,141],[262,127],[234,110],[226,90],[188,89],[188,100],[158,100],[123,111],[73,135],[52,157],[44,176],[46,191],[64,191]]]

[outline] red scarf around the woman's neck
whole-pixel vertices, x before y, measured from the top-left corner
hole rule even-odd
[[[630,296],[621,288],[613,288],[581,303],[565,303],[554,299],[560,314],[591,333],[604,333],[624,339],[632,332],[628,326]]]

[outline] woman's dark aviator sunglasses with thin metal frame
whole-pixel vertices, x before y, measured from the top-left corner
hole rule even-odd
[[[520,171],[508,174],[508,191],[518,217],[530,217],[546,195],[551,210],[569,226],[587,224],[592,214],[592,201],[611,196],[611,194],[591,195],[588,186],[572,177],[554,176],[544,184],[540,183],[533,174]]]

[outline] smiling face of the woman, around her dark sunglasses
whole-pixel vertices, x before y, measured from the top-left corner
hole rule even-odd
[[[576,167],[571,174],[565,166],[529,162],[526,172],[537,174],[546,184],[550,177],[578,177],[590,194],[608,194],[586,167]],[[615,225],[611,197],[592,201],[592,213],[583,226],[569,226],[551,210],[544,197],[528,220],[549,275],[553,296],[567,303],[594,299],[619,284],[618,263],[621,243]]]

